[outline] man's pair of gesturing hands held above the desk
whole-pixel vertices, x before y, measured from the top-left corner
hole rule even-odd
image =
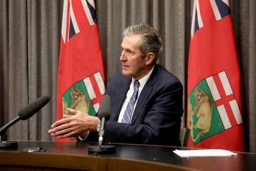
[[[95,127],[100,122],[98,117],[70,108],[68,108],[68,112],[73,115],[64,115],[63,119],[51,125],[52,129],[48,131],[51,136],[59,138],[86,137],[88,131],[96,131]]]

